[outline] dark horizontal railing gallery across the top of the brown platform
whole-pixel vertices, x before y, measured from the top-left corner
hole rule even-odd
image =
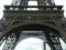
[[[36,8],[38,10],[62,10],[63,6],[4,6],[6,10],[28,10]]]

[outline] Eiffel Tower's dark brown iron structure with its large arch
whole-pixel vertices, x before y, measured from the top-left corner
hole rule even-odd
[[[30,1],[37,6],[29,6]],[[62,8],[54,0],[13,0],[4,6],[0,20],[0,46],[6,41],[2,50],[14,50],[30,37],[45,38],[51,50],[63,50],[59,38],[66,43],[66,19]]]

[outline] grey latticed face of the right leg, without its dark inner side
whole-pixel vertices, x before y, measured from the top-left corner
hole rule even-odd
[[[50,37],[51,37],[51,40],[52,40],[52,43],[53,43],[55,50],[63,50],[58,34],[52,32],[52,33],[50,33]]]

